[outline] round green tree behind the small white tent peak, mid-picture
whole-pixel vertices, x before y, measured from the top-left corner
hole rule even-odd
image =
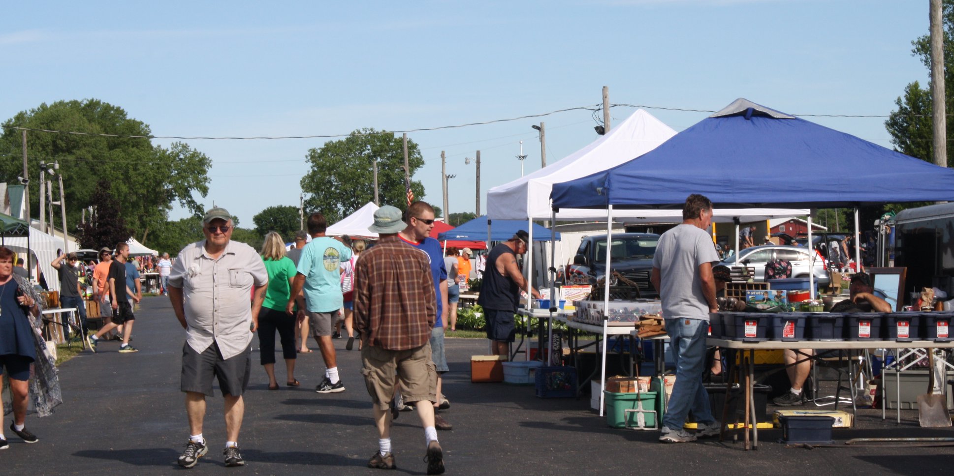
[[[407,140],[410,175],[424,165],[417,143]],[[378,194],[382,205],[404,209],[404,149],[402,139],[374,129],[355,131],[341,140],[325,142],[321,149],[310,149],[306,159],[311,166],[301,177],[301,190],[308,194],[305,210],[321,212],[333,224],[374,201],[372,157],[378,159]],[[414,197],[424,197],[424,185],[411,182]]]

